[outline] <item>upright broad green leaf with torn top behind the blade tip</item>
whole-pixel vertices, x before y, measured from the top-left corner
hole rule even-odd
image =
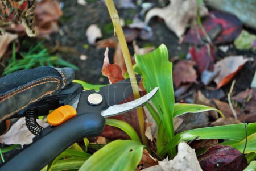
[[[159,87],[158,93],[151,99],[164,124],[167,139],[174,136],[172,114],[174,112],[174,90],[172,85],[172,63],[164,44],[146,55],[135,55],[135,72],[143,77],[143,86],[147,93]],[[164,136],[164,135],[163,135]]]

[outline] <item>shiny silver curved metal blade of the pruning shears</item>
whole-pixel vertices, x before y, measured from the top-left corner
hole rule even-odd
[[[110,106],[108,109],[102,111],[101,115],[104,116],[104,118],[108,118],[110,116],[115,116],[118,114],[122,114],[123,112],[133,110],[149,101],[156,94],[157,91],[158,87],[155,87],[152,91],[150,91],[150,93],[147,93],[143,97],[138,98],[134,101],[123,103],[121,105]]]

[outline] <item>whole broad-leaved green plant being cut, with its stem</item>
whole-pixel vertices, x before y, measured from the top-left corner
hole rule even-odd
[[[106,2],[111,3],[110,1]],[[127,52],[126,45],[123,44],[125,40],[122,36],[122,30],[118,30],[119,23],[117,12],[115,11],[113,4],[108,5],[107,3],[107,6],[110,6],[110,16],[113,20],[119,41],[121,41],[123,55],[126,56],[125,60],[128,60],[126,63],[129,64],[129,57],[127,57],[129,52]],[[146,107],[158,126],[156,149],[157,154],[160,157],[165,157],[166,155],[169,157],[175,156],[176,147],[181,141],[190,141],[193,139],[225,139],[228,141],[222,144],[230,145],[240,151],[243,151],[247,141],[246,149],[244,151],[247,153],[247,160],[250,162],[255,159],[256,123],[250,123],[247,127],[245,127],[244,124],[232,124],[227,126],[198,128],[175,135],[173,119],[176,116],[186,113],[196,114],[209,110],[217,111],[222,117],[224,117],[224,115],[221,111],[204,105],[175,104],[172,84],[172,63],[168,60],[168,51],[165,45],[160,45],[155,51],[148,53],[147,55],[135,55],[135,61],[136,65],[134,66],[134,70],[136,73],[142,75],[143,86],[147,93],[154,89],[154,87],[159,87],[158,93],[152,98],[154,106],[147,103]],[[127,68],[130,70],[129,75],[134,77],[130,64]],[[99,89],[101,86],[93,86],[86,84],[85,82],[82,82],[82,84],[84,89]],[[142,128],[144,123],[141,124],[141,122],[142,121],[140,120],[141,133],[144,135]],[[107,119],[106,124],[118,127],[125,131],[132,140],[115,140],[104,147],[98,146],[100,149],[92,156],[89,156],[88,153],[86,153],[88,141],[85,140],[85,152],[81,151],[80,148],[76,149],[76,151],[79,151],[80,155],[70,154],[68,151],[65,151],[66,153],[61,154],[48,166],[48,168],[50,168],[48,170],[51,170],[51,168],[52,170],[79,168],[79,170],[134,170],[141,160],[143,153],[143,145],[140,142],[139,136],[133,128],[125,122],[115,119]],[[246,137],[247,135],[248,137]],[[143,144],[147,144],[144,139]],[[94,145],[94,147],[96,146]],[[64,166],[67,166],[67,163],[69,164],[68,168],[64,168]],[[255,163],[252,162],[250,167],[255,168]]]

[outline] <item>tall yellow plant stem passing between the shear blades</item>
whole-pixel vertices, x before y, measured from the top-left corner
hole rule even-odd
[[[131,57],[130,57],[130,52],[127,47],[127,43],[125,40],[125,35],[123,34],[123,29],[119,21],[119,16],[117,13],[117,9],[115,9],[114,2],[112,0],[105,0],[106,6],[108,7],[109,15],[112,20],[113,26],[114,26],[114,31],[115,34],[118,37],[119,43],[121,45],[122,53],[123,53],[123,58],[125,59],[125,65],[127,68],[127,72],[130,77],[131,81],[131,86],[133,87],[133,94],[134,98],[137,99],[140,97],[139,95],[139,88],[137,85],[137,80],[135,78],[135,73],[133,70],[133,64],[131,63]],[[138,114],[138,120],[139,120],[139,129],[141,132],[141,137],[142,137],[142,142],[144,145],[148,146],[148,141],[145,136],[145,124],[144,124],[144,116],[143,116],[143,110],[142,107],[137,108],[137,114]]]

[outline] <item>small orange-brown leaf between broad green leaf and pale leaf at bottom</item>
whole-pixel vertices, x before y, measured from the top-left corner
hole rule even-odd
[[[138,165],[139,169],[137,169],[137,170],[141,170],[143,168],[149,168],[149,167],[155,166],[157,164],[158,164],[158,160],[156,160],[154,157],[152,157],[146,149],[143,149],[142,159],[139,162],[139,165]]]

